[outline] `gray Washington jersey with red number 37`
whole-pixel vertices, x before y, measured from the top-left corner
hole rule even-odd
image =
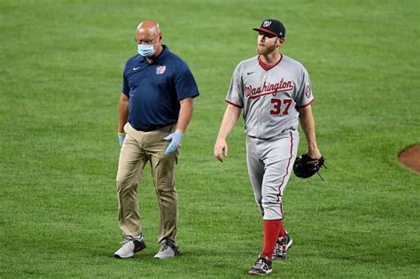
[[[265,70],[259,56],[240,62],[230,81],[226,102],[244,108],[245,133],[270,139],[297,129],[300,107],[314,101],[307,70],[281,56]]]

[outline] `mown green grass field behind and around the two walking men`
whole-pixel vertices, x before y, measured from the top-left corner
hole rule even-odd
[[[213,145],[231,74],[262,19],[308,69],[327,170],[284,195],[294,246],[270,277],[418,278],[420,175],[397,162],[420,143],[420,4],[408,1],[0,0],[0,277],[246,277],[262,221],[243,121]],[[148,248],[115,260],[117,104],[143,19],[190,66],[200,97],[177,169],[182,257],[157,261],[150,167],[139,185]],[[306,148],[301,134],[299,152]]]

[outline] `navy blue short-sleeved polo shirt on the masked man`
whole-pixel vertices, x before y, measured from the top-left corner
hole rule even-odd
[[[128,122],[140,131],[152,131],[178,121],[180,100],[197,97],[198,87],[183,59],[167,46],[149,64],[140,54],[124,68],[122,93],[129,98]]]

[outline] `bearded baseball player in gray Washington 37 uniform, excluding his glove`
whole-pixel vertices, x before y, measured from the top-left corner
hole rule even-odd
[[[240,62],[230,81],[228,107],[214,144],[214,157],[228,155],[226,137],[244,109],[246,162],[264,223],[264,244],[249,275],[267,275],[272,260],[284,260],[292,238],[283,227],[282,199],[299,143],[298,119],[307,139],[307,155],[321,158],[315,140],[314,102],[307,70],[279,50],[285,28],[266,19],[258,31],[258,55]]]

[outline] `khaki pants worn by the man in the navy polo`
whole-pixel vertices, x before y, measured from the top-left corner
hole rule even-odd
[[[175,167],[178,150],[165,155],[169,142],[163,139],[175,130],[175,126],[142,132],[127,123],[124,130],[127,136],[121,147],[117,173],[118,225],[125,236],[142,234],[136,189],[145,164],[150,161],[159,200],[159,243],[165,238],[176,241],[178,199]]]

